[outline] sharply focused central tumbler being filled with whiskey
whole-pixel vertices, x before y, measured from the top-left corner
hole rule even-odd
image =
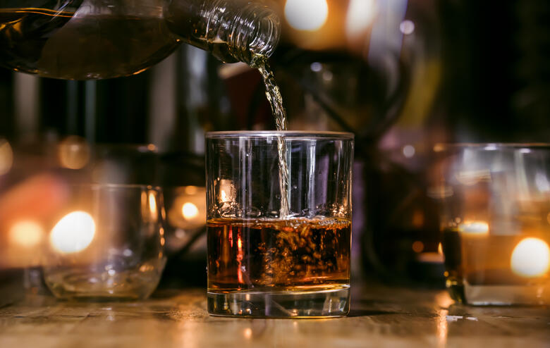
[[[207,134],[209,313],[348,313],[352,163],[350,133]]]

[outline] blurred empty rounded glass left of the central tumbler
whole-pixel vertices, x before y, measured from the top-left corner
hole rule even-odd
[[[145,185],[75,185],[52,216],[44,280],[61,299],[145,299],[164,256],[161,190]]]

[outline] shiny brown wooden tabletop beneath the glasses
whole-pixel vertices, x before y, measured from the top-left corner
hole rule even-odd
[[[58,302],[27,295],[0,308],[0,347],[550,347],[550,309],[452,304],[440,290],[355,287],[337,319],[209,316],[204,290],[145,302]]]

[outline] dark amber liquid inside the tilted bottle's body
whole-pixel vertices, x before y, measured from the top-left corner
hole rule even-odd
[[[0,9],[0,64],[44,77],[134,75],[169,56],[178,44],[161,8],[145,17]]]

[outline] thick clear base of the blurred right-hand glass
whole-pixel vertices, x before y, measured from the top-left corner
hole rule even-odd
[[[452,285],[448,288],[457,302],[474,306],[550,304],[550,288],[544,285]]]

